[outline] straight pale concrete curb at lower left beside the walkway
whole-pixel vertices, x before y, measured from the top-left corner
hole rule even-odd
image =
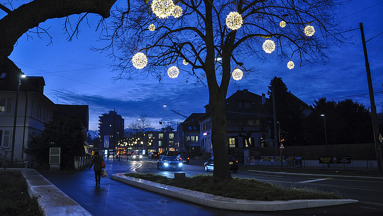
[[[37,197],[37,202],[45,216],[92,216],[85,208],[50,183],[36,170],[24,168],[17,170],[21,171],[28,184],[29,196]]]

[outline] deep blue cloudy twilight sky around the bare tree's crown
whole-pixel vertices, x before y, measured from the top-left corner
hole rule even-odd
[[[124,1],[119,0],[116,4],[124,4]],[[1,11],[0,18],[4,15]],[[382,112],[383,101],[383,61],[379,57],[383,50],[383,34],[380,34],[383,32],[382,15],[382,0],[353,0],[343,9],[343,14],[338,15],[344,30],[358,28],[362,22],[366,40],[376,36],[367,42],[367,52],[373,90],[378,92],[374,94],[378,112]],[[75,21],[77,17],[72,19]],[[161,127],[159,121],[169,121],[175,128],[177,121],[184,120],[170,110],[186,116],[204,112],[209,101],[207,87],[197,87],[192,82],[185,84],[186,77],[182,74],[177,79],[165,77],[161,83],[155,77],[138,75],[129,81],[112,83],[111,78],[116,73],[108,66],[113,64],[113,59],[107,57],[108,53],[90,50],[91,46],[103,46],[103,42],[98,41],[100,32],[95,31],[98,19],[90,15],[90,27],[83,24],[78,39],[71,42],[62,30],[65,19],[48,20],[40,26],[51,26],[48,33],[53,37],[52,43],[49,44],[50,39],[46,35],[42,39],[32,35],[31,39],[24,34],[10,59],[27,76],[43,76],[46,83],[44,94],[54,103],[88,104],[90,130],[98,130],[98,116],[113,109],[125,119],[125,126],[141,114],[147,114],[155,128]],[[347,32],[346,36],[352,36],[355,43],[342,49],[334,47],[333,61],[326,65],[296,66],[289,70],[277,59],[268,63],[254,60],[252,66],[259,68],[263,76],[252,75],[232,82],[228,96],[238,88],[246,88],[259,95],[267,94],[270,80],[277,76],[293,94],[309,105],[326,97],[330,100],[352,98],[369,107],[360,30]],[[163,104],[167,106],[163,107]]]

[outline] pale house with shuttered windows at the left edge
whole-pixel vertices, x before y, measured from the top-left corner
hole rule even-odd
[[[7,154],[2,159],[10,161],[14,145],[13,161],[22,165],[25,159],[30,159],[23,151],[28,148],[30,137],[39,136],[44,130],[44,123],[49,122],[53,113],[59,110],[44,95],[43,77],[20,78],[20,75],[21,70],[10,60],[0,69],[0,153],[2,157]],[[28,166],[33,166],[33,163]]]

